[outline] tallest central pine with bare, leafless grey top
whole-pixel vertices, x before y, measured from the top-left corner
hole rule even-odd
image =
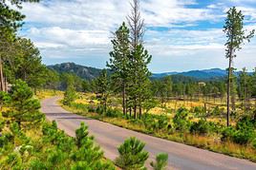
[[[134,117],[137,118],[139,107],[139,118],[142,114],[143,103],[150,95],[148,85],[150,72],[147,65],[151,62],[152,56],[143,47],[143,34],[145,31],[144,20],[140,17],[139,0],[131,3],[131,14],[127,17],[130,26],[131,57],[129,61],[129,105],[134,107]]]

